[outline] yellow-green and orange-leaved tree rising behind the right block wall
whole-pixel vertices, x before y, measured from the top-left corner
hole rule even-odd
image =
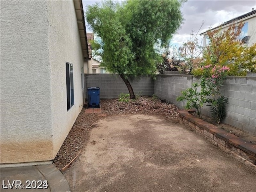
[[[223,32],[207,32],[210,43],[204,50],[204,66],[228,66],[230,76],[246,76],[247,70],[256,72],[256,44],[247,47],[238,39],[243,26],[244,23],[240,22],[231,24]]]

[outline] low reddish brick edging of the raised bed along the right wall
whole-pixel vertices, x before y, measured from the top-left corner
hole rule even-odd
[[[204,136],[214,146],[256,172],[256,145],[196,118],[190,114],[191,112],[195,112],[195,110],[180,110],[179,123]]]

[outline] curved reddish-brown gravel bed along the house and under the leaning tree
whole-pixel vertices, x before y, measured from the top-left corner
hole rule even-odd
[[[83,108],[64,143],[62,144],[53,164],[61,170],[86,144],[87,132],[101,118],[118,114],[148,114],[165,118],[177,119],[179,109],[173,104],[161,102],[160,99],[138,96],[136,100],[119,102],[118,99],[101,100],[102,113],[85,114]]]

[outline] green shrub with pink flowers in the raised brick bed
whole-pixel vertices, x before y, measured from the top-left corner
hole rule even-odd
[[[177,100],[186,100],[185,108],[195,108],[200,118],[202,118],[201,108],[204,103],[208,103],[212,117],[219,124],[226,115],[225,105],[228,102],[226,97],[220,95],[220,88],[229,70],[227,66],[211,64],[199,68],[198,71],[202,72],[200,84],[192,84],[192,88],[182,91],[182,96],[177,97]],[[201,88],[200,92],[198,87]]]

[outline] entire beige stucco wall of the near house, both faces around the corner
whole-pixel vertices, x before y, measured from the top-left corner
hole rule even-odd
[[[84,60],[74,3],[0,3],[1,164],[53,160],[83,105]],[[74,68],[69,111],[66,62]]]

